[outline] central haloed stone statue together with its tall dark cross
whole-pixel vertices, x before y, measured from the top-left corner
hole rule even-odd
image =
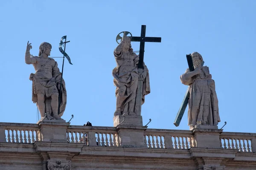
[[[145,95],[150,93],[148,68],[143,62],[145,42],[161,42],[158,37],[145,37],[145,28],[141,28],[140,37],[128,37],[123,32],[121,42],[114,50],[116,68],[113,69],[116,86],[116,111],[114,116],[140,116]],[[117,37],[118,38],[118,37]],[[131,48],[131,41],[140,42],[140,55]]]

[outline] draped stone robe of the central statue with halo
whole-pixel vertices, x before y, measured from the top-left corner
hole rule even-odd
[[[114,52],[116,59],[116,68],[113,69],[114,85],[116,86],[116,96],[119,94],[120,89],[125,89],[124,95],[119,97],[117,108],[120,107],[121,112],[124,111],[125,107],[130,107],[128,110],[137,113],[135,109],[136,92],[138,88],[138,62],[139,56],[137,56],[132,50],[128,53],[121,51],[120,54]],[[143,93],[142,93],[142,104],[145,101],[145,95],[150,93],[149,85],[149,74],[148,68],[144,65],[143,72],[146,72],[146,77],[143,81]],[[123,87],[125,86],[125,87]]]

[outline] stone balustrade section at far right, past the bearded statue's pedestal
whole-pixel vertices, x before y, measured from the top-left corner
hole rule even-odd
[[[223,132],[220,134],[223,149],[236,149],[239,152],[256,152],[256,133]]]

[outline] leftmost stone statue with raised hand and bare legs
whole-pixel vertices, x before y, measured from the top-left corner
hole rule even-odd
[[[35,74],[30,74],[32,80],[32,101],[37,104],[41,114],[41,119],[47,114],[48,119],[61,119],[66,103],[67,91],[65,82],[62,79],[61,72],[58,69],[57,62],[49,58],[52,45],[48,42],[41,43],[38,57],[30,54],[31,43],[27,43],[25,62],[32,64],[35,68]],[[60,87],[62,88],[61,106],[58,115],[58,95]]]

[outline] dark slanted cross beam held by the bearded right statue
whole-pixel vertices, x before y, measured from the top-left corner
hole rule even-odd
[[[188,65],[189,65],[189,71],[190,71],[190,72],[191,72],[191,71],[194,71],[195,68],[194,68],[194,65],[193,65],[193,61],[192,61],[192,56],[191,56],[191,54],[186,55],[186,58],[187,58]],[[204,65],[204,61],[202,61],[202,63],[201,63],[201,66],[203,66],[203,65]],[[182,103],[181,103],[180,109],[179,109],[179,111],[178,111],[178,113],[177,113],[177,116],[176,116],[176,118],[175,118],[175,121],[174,121],[174,123],[173,123],[175,126],[179,126],[179,125],[180,125],[180,121],[181,121],[181,119],[182,119],[182,117],[183,117],[183,114],[184,114],[184,112],[185,112],[185,110],[186,110],[186,106],[187,106],[188,103],[189,103],[189,88],[190,88],[190,87],[188,87],[188,89],[187,89],[187,91],[186,91],[186,94],[185,94],[185,96],[184,96],[184,98],[183,98],[183,101],[182,101]]]

